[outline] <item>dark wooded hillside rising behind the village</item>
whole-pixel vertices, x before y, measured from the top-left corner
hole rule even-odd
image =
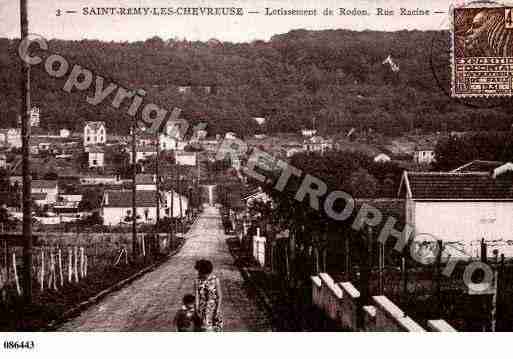
[[[425,44],[447,32],[294,30],[269,41],[230,43],[153,37],[138,42],[50,40],[49,48],[128,88],[146,90],[146,100],[179,106],[192,124],[208,123],[211,135],[261,130],[252,120],[265,117],[268,132],[295,132],[311,126],[321,133],[350,128],[399,135],[412,128],[438,131],[509,128],[509,105],[468,107],[450,99],[433,76],[431,59],[445,69],[447,51],[433,54]],[[442,41],[443,42],[443,41]],[[14,126],[20,108],[18,40],[0,39],[0,118]],[[382,61],[391,55],[394,72]],[[126,111],[91,106],[83,93],[65,93],[64,79],[33,68],[34,105],[47,129],[80,130],[85,120],[103,120],[111,133],[128,133]],[[183,94],[177,86],[211,86],[214,91]],[[92,91],[92,89],[91,89]]]

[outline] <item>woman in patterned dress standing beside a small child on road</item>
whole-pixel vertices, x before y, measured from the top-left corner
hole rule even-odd
[[[220,332],[223,330],[221,311],[223,296],[219,278],[212,274],[214,266],[209,260],[201,259],[197,261],[194,269],[198,271],[198,278],[194,282],[194,287],[201,328],[206,332]]]

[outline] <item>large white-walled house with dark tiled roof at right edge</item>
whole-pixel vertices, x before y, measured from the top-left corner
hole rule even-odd
[[[399,196],[406,199],[406,223],[417,234],[464,248],[481,238],[513,240],[511,167],[495,173],[405,171]]]

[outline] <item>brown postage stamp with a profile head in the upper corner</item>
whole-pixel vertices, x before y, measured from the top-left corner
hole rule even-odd
[[[453,8],[452,95],[513,96],[513,5]]]

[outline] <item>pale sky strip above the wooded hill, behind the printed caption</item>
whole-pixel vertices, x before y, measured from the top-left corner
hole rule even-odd
[[[164,40],[186,38],[207,41],[248,42],[269,40],[293,29],[323,30],[439,30],[448,28],[447,0],[28,0],[29,32],[48,39],[98,39],[140,41],[153,36]],[[91,16],[83,8],[95,7],[240,7],[243,16]],[[369,16],[266,16],[265,8],[359,8]],[[394,10],[393,16],[377,16],[376,8]],[[442,14],[400,16],[399,8],[428,9]],[[57,11],[61,10],[61,16]],[[65,11],[77,11],[69,14]],[[258,14],[249,14],[256,11]],[[19,37],[19,0],[0,0],[0,37]]]

